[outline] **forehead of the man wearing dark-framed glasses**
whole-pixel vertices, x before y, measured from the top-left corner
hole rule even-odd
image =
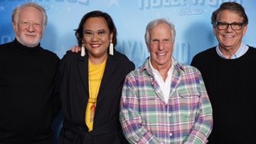
[[[240,14],[236,11],[219,11],[219,14],[217,15],[217,20],[227,21],[227,22],[242,22],[243,17],[240,16]]]

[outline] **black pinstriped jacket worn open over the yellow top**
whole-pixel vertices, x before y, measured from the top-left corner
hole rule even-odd
[[[93,130],[88,132],[88,55],[68,52],[59,67],[59,91],[64,111],[59,143],[126,143],[119,122],[123,81],[134,64],[119,52],[109,55],[98,92]]]

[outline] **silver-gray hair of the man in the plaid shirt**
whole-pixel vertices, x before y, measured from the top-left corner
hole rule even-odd
[[[171,29],[171,38],[172,38],[172,42],[174,42],[175,40],[175,36],[176,36],[176,31],[174,28],[174,24],[169,22],[168,20],[166,20],[165,18],[160,18],[160,19],[156,19],[156,20],[152,20],[148,23],[147,27],[146,27],[146,33],[145,33],[145,41],[146,44],[149,44],[149,32],[156,26],[158,26],[158,24],[167,24],[168,27],[170,27]]]

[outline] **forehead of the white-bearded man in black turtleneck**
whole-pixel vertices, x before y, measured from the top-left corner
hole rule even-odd
[[[43,21],[43,13],[37,8],[27,6],[21,8],[18,20]]]

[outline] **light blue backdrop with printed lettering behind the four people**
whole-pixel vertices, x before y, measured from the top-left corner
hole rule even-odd
[[[149,56],[144,41],[146,24],[164,17],[174,23],[177,37],[173,56],[184,64],[198,52],[217,44],[210,24],[211,14],[222,2],[238,2],[248,14],[245,44],[256,46],[256,1],[254,0],[0,0],[0,44],[14,39],[11,11],[24,2],[46,9],[48,24],[41,45],[62,58],[77,45],[74,30],[88,11],[105,11],[117,27],[117,51],[139,67]]]

